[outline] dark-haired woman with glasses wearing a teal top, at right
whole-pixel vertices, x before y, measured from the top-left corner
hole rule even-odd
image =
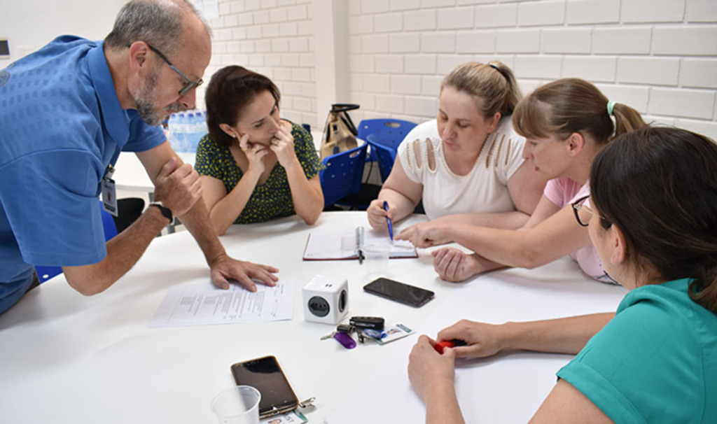
[[[427,423],[462,423],[455,359],[501,351],[577,354],[531,422],[717,423],[717,145],[645,127],[598,153],[590,204],[574,204],[606,271],[630,289],[616,314],[492,325],[461,321],[421,336],[409,378]]]

